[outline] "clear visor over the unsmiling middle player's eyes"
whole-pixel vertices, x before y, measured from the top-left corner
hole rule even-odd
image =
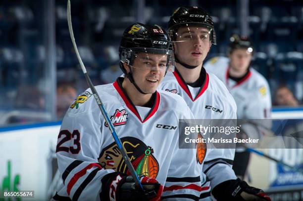
[[[211,30],[205,27],[182,26],[173,35],[173,42],[211,42]]]

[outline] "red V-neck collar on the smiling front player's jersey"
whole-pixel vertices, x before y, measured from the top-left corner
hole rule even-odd
[[[124,103],[126,104],[127,108],[132,111],[134,113],[134,115],[137,116],[137,118],[144,123],[145,121],[148,121],[154,114],[155,112],[158,110],[159,108],[159,104],[160,104],[160,94],[156,91],[156,97],[155,97],[155,101],[153,103],[153,106],[150,110],[150,112],[148,113],[148,115],[146,116],[146,118],[142,121],[137,108],[135,107],[135,105],[133,104],[133,102],[130,100],[130,98],[128,97],[126,91],[123,89],[122,87],[122,81],[119,80],[119,78],[113,83],[114,88],[117,90],[117,92],[119,93],[119,95],[121,96],[121,98],[123,99]]]

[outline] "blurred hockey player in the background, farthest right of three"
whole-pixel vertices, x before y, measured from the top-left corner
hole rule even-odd
[[[260,139],[266,129],[270,129],[270,121],[260,119],[270,119],[271,98],[265,78],[250,68],[252,56],[252,42],[247,37],[233,35],[228,46],[228,58],[214,57],[205,64],[205,69],[222,80],[233,95],[238,119],[251,119],[242,124],[239,137]],[[249,159],[250,152],[241,148],[236,150],[233,164],[236,175],[244,178]]]

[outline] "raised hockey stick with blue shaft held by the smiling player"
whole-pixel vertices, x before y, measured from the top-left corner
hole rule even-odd
[[[135,170],[135,168],[133,167],[131,161],[129,160],[129,158],[128,158],[127,154],[126,154],[126,151],[125,151],[124,147],[122,146],[121,140],[118,138],[118,135],[117,135],[117,133],[116,133],[116,131],[115,131],[115,128],[113,127],[113,125],[112,125],[112,123],[111,123],[111,121],[110,121],[110,119],[109,119],[109,117],[108,117],[108,115],[107,115],[107,113],[106,113],[106,110],[105,110],[105,108],[104,108],[104,106],[103,106],[103,103],[102,103],[102,101],[101,101],[101,98],[99,97],[99,94],[98,94],[97,91],[96,91],[96,88],[95,88],[94,84],[92,83],[90,77],[88,76],[88,74],[87,74],[87,72],[86,72],[86,68],[85,68],[85,66],[84,66],[84,64],[83,64],[83,62],[82,62],[82,59],[81,59],[81,57],[80,57],[80,54],[79,54],[79,52],[78,52],[78,48],[77,48],[77,45],[76,45],[76,42],[75,42],[75,38],[74,38],[72,23],[71,23],[70,0],[67,1],[67,22],[68,22],[68,30],[69,30],[70,38],[71,38],[71,40],[72,40],[72,43],[73,43],[75,52],[76,52],[76,54],[77,54],[77,58],[78,58],[78,60],[79,60],[81,69],[82,69],[83,74],[84,74],[84,76],[85,76],[85,79],[87,80],[87,83],[88,83],[88,85],[90,86],[90,88],[91,88],[91,90],[92,90],[92,92],[93,92],[93,95],[94,95],[94,97],[95,97],[95,100],[97,101],[97,104],[98,104],[98,106],[99,106],[99,108],[100,108],[100,110],[101,110],[101,113],[102,113],[102,115],[103,115],[103,117],[104,117],[104,119],[105,119],[105,122],[107,123],[108,128],[109,128],[109,130],[110,130],[110,132],[111,132],[111,135],[112,135],[112,137],[114,138],[114,141],[115,141],[115,143],[117,144],[118,149],[119,149],[119,151],[121,152],[121,154],[122,154],[122,156],[123,156],[123,159],[124,159],[124,161],[125,161],[125,163],[126,163],[126,165],[127,165],[127,168],[128,168],[128,170],[129,170],[130,174],[131,174],[132,177],[134,178],[136,185],[137,185],[142,191],[144,191],[144,190],[143,190],[143,186],[142,186],[142,184],[141,184],[141,182],[140,182],[140,180],[139,180],[139,177],[138,177],[138,175],[137,175],[137,173],[136,173],[136,170]]]

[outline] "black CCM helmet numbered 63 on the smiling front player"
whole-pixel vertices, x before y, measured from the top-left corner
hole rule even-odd
[[[135,83],[132,70],[127,73],[123,64],[126,63],[130,67],[134,67],[133,63],[138,53],[149,54],[163,54],[166,56],[166,68],[164,66],[163,71],[174,70],[174,54],[172,51],[172,44],[169,40],[168,34],[158,25],[145,25],[142,23],[135,23],[123,33],[120,46],[119,46],[119,58],[120,68],[123,71],[126,78],[128,78],[143,94],[144,93],[139,86]],[[136,67],[140,68],[140,67]],[[144,68],[144,67],[142,67]]]

